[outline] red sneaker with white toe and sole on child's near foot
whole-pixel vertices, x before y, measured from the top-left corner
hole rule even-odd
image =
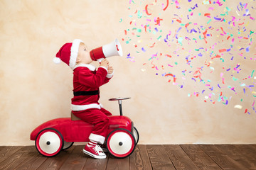
[[[107,157],[99,145],[86,145],[85,149],[83,149],[82,152],[97,159],[105,159]]]

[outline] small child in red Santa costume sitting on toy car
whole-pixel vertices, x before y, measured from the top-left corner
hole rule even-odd
[[[103,145],[107,135],[109,118],[112,115],[102,108],[99,103],[99,88],[106,84],[113,76],[113,68],[107,60],[102,60],[97,71],[90,63],[90,51],[82,40],[75,39],[65,43],[56,54],[55,62],[63,61],[73,69],[72,112],[75,116],[87,123],[94,125],[89,136],[90,142],[83,152],[97,159],[105,159],[106,154],[98,145]]]

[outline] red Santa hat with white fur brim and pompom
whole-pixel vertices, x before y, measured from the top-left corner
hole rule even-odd
[[[75,62],[78,57],[80,42],[82,42],[82,40],[75,39],[72,43],[65,43],[65,45],[63,45],[56,54],[53,62],[55,62],[55,64],[59,64],[60,61],[63,61],[65,62],[65,64],[68,64],[71,69],[73,69],[75,67]]]

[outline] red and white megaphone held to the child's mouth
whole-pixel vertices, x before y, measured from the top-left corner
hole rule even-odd
[[[103,59],[112,56],[122,57],[122,47],[119,40],[114,39],[113,42],[102,47],[97,47],[90,51],[90,57],[94,61],[101,62]]]

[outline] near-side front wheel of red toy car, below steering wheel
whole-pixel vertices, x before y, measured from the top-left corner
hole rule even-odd
[[[113,130],[107,137],[107,150],[113,157],[128,157],[134,148],[134,135],[126,129]]]

